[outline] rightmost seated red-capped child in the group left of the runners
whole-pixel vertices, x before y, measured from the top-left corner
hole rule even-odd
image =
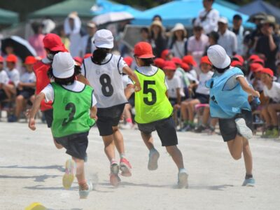
[[[20,76],[18,83],[18,96],[15,99],[15,115],[8,117],[8,122],[14,123],[20,120],[20,113],[25,109],[28,101],[33,104],[35,99],[36,76],[33,72],[33,66],[36,63],[36,58],[27,56],[25,59],[26,72]]]

